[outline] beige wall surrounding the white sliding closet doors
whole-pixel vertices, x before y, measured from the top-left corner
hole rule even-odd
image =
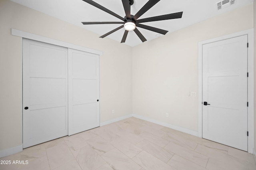
[[[0,151],[22,144],[22,39],[12,36],[11,28],[103,51],[100,121],[132,113],[131,47],[98,38],[98,34],[9,0],[0,0]]]

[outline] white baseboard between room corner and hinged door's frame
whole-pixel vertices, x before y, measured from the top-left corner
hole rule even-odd
[[[176,125],[172,125],[172,124],[169,124],[169,123],[157,121],[157,120],[150,119],[150,118],[148,118],[148,117],[144,117],[144,116],[140,116],[140,115],[136,115],[136,114],[132,114],[132,117],[136,117],[136,118],[138,118],[138,119],[142,119],[142,120],[144,120],[144,121],[152,122],[152,123],[155,123],[155,124],[164,126],[164,127],[172,128],[172,129],[178,130],[178,131],[180,131],[180,132],[184,132],[184,133],[187,133],[187,134],[191,134],[191,135],[194,135],[194,136],[198,136],[198,132],[197,132],[197,131],[194,131],[194,130],[190,130],[190,129],[183,128],[183,127],[178,127],[178,126],[176,126]]]

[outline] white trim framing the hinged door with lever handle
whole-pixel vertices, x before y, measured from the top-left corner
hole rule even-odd
[[[236,32],[226,36],[213,38],[210,40],[204,40],[198,42],[198,137],[202,138],[202,55],[203,45],[212,42],[218,42],[221,40],[234,38],[238,36],[248,35],[248,152],[252,153],[254,148],[254,29],[244,30],[242,32]]]

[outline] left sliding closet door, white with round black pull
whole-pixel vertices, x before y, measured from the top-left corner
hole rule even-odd
[[[68,49],[23,39],[23,148],[68,135]]]

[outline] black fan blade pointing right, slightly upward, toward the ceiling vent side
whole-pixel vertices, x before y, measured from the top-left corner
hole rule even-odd
[[[177,12],[173,14],[166,14],[166,15],[161,15],[161,16],[154,16],[150,18],[144,18],[137,20],[137,23],[142,23],[142,22],[152,22],[152,21],[162,21],[162,20],[171,20],[171,19],[176,19],[176,18],[181,18],[183,12]]]

